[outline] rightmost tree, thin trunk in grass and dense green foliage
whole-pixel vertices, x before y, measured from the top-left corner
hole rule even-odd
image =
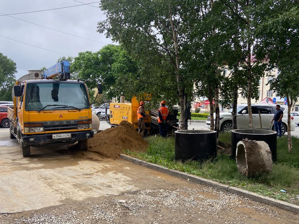
[[[290,111],[299,96],[299,7],[298,1],[267,0],[257,8],[257,55],[269,59],[269,68],[278,69],[270,87],[288,102],[288,148],[292,151]]]

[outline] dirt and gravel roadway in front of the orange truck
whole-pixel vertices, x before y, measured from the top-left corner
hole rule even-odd
[[[62,148],[24,158],[0,128],[0,223],[299,223],[292,212]]]

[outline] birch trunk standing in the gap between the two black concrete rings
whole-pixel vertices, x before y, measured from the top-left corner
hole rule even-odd
[[[211,3],[211,10],[212,10],[212,15],[214,15],[214,0],[210,0],[210,3]],[[213,23],[212,25],[212,35],[213,35],[213,38],[215,38],[215,23]],[[218,61],[217,61],[217,55],[218,55],[218,51],[216,51],[216,60],[215,60],[215,80],[216,80],[216,83],[215,83],[215,114],[216,114],[216,118],[215,118],[215,128],[214,128],[214,131],[217,132],[216,136],[217,136],[217,141],[218,141],[218,138],[219,138],[219,119],[220,119],[220,115],[219,115],[219,82],[218,82],[218,79],[219,79],[219,70],[218,70]],[[213,101],[212,101],[213,103]]]

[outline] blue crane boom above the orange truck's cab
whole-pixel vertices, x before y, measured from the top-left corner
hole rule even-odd
[[[56,65],[49,67],[44,71],[43,79],[53,79],[58,76],[61,81],[66,81],[71,78],[70,62],[60,61]]]

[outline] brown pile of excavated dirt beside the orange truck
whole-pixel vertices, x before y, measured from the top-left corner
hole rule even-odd
[[[120,125],[114,128],[108,128],[88,139],[88,149],[84,152],[85,158],[117,159],[123,150],[146,151],[147,141],[141,137],[134,126],[122,121]]]

